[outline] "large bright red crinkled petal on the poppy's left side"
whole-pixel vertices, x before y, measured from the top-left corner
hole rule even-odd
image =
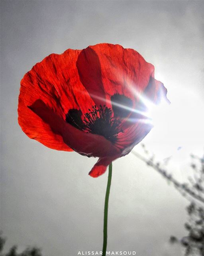
[[[18,122],[22,130],[45,146],[56,150],[73,151],[60,135],[27,107],[42,100],[61,118],[70,109],[80,109],[82,114],[94,104],[81,84],[76,62],[80,50],[67,50],[63,54],[51,54],[35,64],[21,81]]]

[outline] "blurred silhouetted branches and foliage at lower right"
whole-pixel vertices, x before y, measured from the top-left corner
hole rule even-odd
[[[142,146],[146,158],[135,152],[133,154],[173,183],[180,194],[190,201],[190,205],[186,208],[188,221],[184,224],[188,235],[181,239],[171,236],[171,244],[180,243],[185,248],[185,256],[204,256],[204,156],[199,158],[193,154],[191,155],[193,175],[188,178],[188,183],[180,183],[165,168],[161,167],[161,163],[155,163],[154,155],[150,157],[148,150],[144,145]],[[165,160],[169,161],[169,159],[166,158]],[[197,164],[194,163],[194,160],[197,161]]]

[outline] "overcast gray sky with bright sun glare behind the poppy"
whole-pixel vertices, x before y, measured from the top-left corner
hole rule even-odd
[[[137,50],[167,87],[171,113],[179,113],[177,118],[170,114],[171,121],[155,128],[145,143],[158,157],[183,146],[173,166],[184,179],[189,152],[201,154],[204,145],[203,13],[204,1],[1,1],[1,230],[6,248],[37,245],[46,256],[102,249],[107,173],[91,178],[96,159],[51,150],[22,132],[17,106],[24,74],[67,48],[108,42]],[[116,160],[107,249],[181,255],[168,240],[186,234],[187,204],[133,154]]]

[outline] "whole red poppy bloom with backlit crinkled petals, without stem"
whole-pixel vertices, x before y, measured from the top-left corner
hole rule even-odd
[[[89,173],[98,177],[151,130],[143,99],[158,103],[166,94],[154,66],[133,49],[68,49],[25,74],[18,122],[29,138],[49,148],[99,157]]]

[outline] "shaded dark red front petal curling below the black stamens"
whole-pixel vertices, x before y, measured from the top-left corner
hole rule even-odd
[[[54,134],[63,138],[65,144],[81,155],[105,157],[120,154],[120,150],[109,140],[97,134],[81,131],[68,124],[41,100],[36,100],[29,108]],[[100,146],[99,146],[100,145]]]

